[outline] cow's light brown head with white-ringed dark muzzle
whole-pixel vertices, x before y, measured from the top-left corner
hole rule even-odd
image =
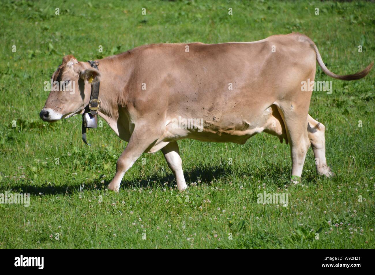
[[[78,62],[73,55],[66,55],[51,79],[49,87],[52,89],[39,114],[43,121],[48,122],[82,113],[90,101],[89,80],[99,81],[100,73],[89,63]]]

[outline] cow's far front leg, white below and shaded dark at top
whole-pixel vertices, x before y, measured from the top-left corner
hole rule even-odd
[[[164,148],[161,149],[164,154],[165,160],[169,168],[174,173],[177,182],[178,190],[185,190],[187,188],[184,174],[182,171],[182,160],[180,157],[180,150],[176,141],[169,142]]]

